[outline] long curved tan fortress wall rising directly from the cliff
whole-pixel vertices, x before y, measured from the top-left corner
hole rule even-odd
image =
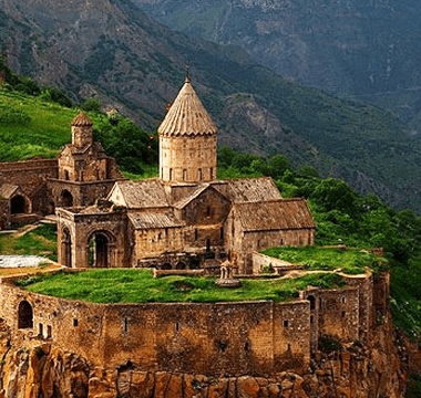
[[[307,293],[316,298],[314,308]],[[131,360],[145,371],[265,376],[307,371],[318,332],[342,342],[359,338],[358,287],[301,295],[304,300],[286,303],[101,305],[34,294],[3,282],[0,316],[13,338],[33,339],[35,345],[51,342],[95,366],[113,368]],[[22,300],[33,308],[33,325],[24,329],[18,327]]]

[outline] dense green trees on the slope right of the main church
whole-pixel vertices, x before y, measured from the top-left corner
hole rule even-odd
[[[264,176],[270,160],[223,149],[218,175],[229,171],[232,178]],[[287,166],[281,171],[271,170],[270,175],[283,197],[308,200],[316,220],[316,244],[384,249],[391,272],[393,323],[421,342],[421,217],[412,210],[397,211],[372,193],[362,197],[341,180],[318,178],[311,167],[301,166],[296,171]],[[329,263],[333,258],[318,261]]]

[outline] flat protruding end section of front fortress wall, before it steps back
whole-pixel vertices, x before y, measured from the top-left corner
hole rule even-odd
[[[307,301],[274,306],[275,369],[307,371],[310,363],[310,306]]]

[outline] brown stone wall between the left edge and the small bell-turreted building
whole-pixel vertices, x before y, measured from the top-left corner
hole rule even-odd
[[[0,163],[0,185],[19,186],[31,200],[32,212],[52,211],[45,182],[58,172],[57,159]]]

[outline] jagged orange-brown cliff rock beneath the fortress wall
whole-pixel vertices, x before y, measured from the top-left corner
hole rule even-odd
[[[18,343],[4,321],[0,327],[1,398],[399,398],[404,394],[405,376],[389,316],[363,346],[356,342],[341,350],[320,352],[305,375],[284,371],[267,378],[145,373],[131,363],[99,368],[49,344]]]

